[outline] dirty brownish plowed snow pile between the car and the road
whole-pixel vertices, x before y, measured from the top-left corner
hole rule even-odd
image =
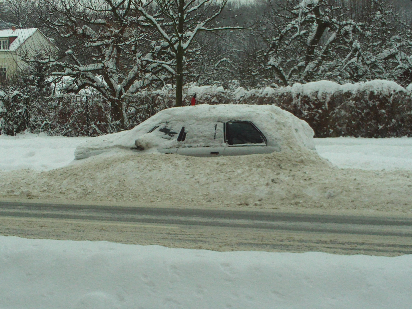
[[[411,211],[411,171],[337,169],[304,148],[197,158],[122,151],[0,176],[0,197],[169,207]]]

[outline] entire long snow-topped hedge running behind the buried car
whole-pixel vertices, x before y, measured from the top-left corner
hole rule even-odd
[[[168,85],[130,96],[124,102],[127,128],[172,107],[172,88]],[[318,81],[234,91],[216,85],[188,85],[183,101],[189,105],[197,94],[198,104],[274,104],[306,121],[316,137],[401,137],[412,136],[411,89],[411,85],[405,89],[387,80],[344,85]],[[60,101],[28,100],[9,90],[0,93],[0,133],[15,135],[30,129],[49,135],[96,136],[118,130],[118,124],[110,119],[108,105],[96,93],[87,100],[77,96]]]

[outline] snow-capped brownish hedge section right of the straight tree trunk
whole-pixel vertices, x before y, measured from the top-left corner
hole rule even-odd
[[[316,137],[412,136],[412,93],[388,80],[330,81],[235,91],[201,88],[199,103],[274,104],[306,121]],[[187,90],[187,100],[199,87]]]

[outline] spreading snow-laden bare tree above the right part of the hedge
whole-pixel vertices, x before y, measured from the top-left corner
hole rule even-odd
[[[254,73],[283,85],[399,79],[412,64],[410,30],[386,1],[357,2],[269,0]]]

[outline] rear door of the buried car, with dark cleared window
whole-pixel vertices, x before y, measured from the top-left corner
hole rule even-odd
[[[268,147],[263,133],[249,121],[231,121],[224,125],[226,147],[223,155],[252,155],[272,153],[275,147]]]

